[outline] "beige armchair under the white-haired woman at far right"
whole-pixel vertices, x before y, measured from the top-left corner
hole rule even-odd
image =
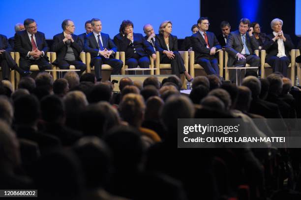
[[[292,49],[290,52],[291,55],[291,64],[288,66],[288,68],[291,68],[291,81],[293,85],[295,86],[295,70],[296,70],[296,49]],[[265,68],[271,68],[271,66],[266,63],[266,50],[261,50],[261,78],[266,78],[265,76]]]

